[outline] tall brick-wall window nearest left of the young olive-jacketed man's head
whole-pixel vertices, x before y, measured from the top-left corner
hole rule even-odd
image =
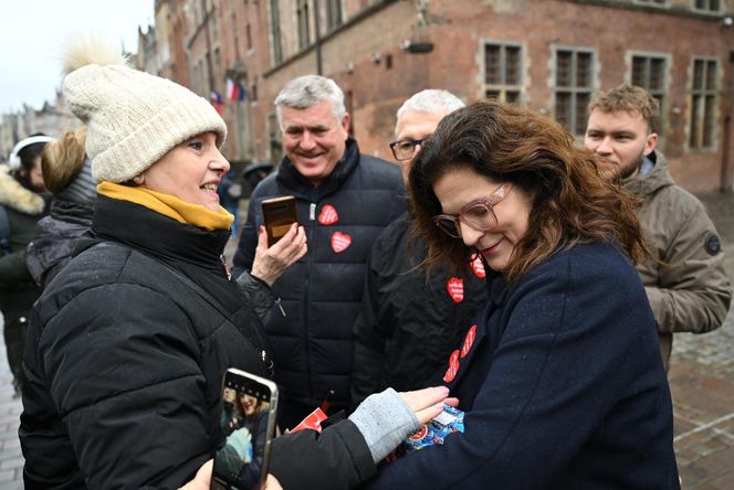
[[[556,50],[556,120],[572,135],[586,130],[586,107],[591,100],[594,53]]]

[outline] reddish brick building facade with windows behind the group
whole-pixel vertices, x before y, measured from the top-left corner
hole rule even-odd
[[[677,180],[732,188],[734,0],[156,1],[164,8],[177,68],[166,73],[222,95],[233,160],[280,159],[272,100],[308,73],[339,84],[361,150],[386,159],[397,108],[422,88],[524,104],[580,137],[594,92],[628,82],[662,103]],[[244,100],[228,99],[228,78]]]

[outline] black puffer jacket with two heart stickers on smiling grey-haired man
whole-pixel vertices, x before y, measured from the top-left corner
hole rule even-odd
[[[251,269],[263,223],[261,202],[279,195],[297,199],[298,221],[306,230],[308,253],[273,285],[285,317],[273,308],[265,321],[287,403],[314,408],[334,390],[333,407],[349,401],[354,365],[354,322],[359,312],[365,264],[381,231],[405,210],[405,190],[397,166],[359,155],[347,140],[345,157],[318,187],[303,178],[287,159],[263,180],[250,210],[234,256],[233,274]]]

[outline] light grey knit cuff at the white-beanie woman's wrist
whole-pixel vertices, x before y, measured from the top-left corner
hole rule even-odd
[[[376,464],[420,427],[416,414],[392,388],[368,396],[349,420],[361,433]]]

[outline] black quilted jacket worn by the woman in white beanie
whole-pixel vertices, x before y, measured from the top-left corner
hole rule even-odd
[[[33,310],[20,428],[25,488],[178,488],[220,441],[224,370],[270,375],[266,340],[220,259],[227,231],[104,196],[93,231]],[[321,473],[324,484],[369,476],[364,439],[353,424],[339,426],[318,440],[279,443],[274,475],[313,472],[298,466],[305,444],[312,458],[317,445],[359,458]]]

